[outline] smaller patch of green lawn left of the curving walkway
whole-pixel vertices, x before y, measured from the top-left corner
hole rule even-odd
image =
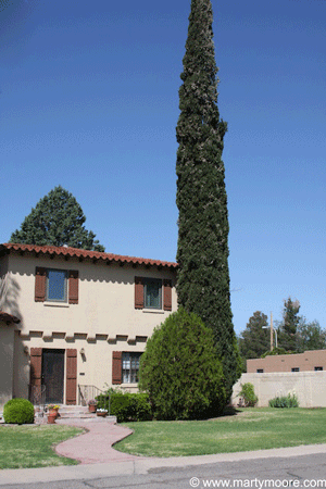
[[[0,469],[77,464],[57,455],[53,446],[83,431],[59,425],[0,425]]]

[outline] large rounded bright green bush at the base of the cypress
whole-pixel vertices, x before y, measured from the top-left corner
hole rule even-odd
[[[140,359],[139,377],[159,419],[212,417],[225,406],[212,329],[183,308],[154,329]]]

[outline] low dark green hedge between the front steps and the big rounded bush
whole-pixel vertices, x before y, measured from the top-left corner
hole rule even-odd
[[[118,423],[127,421],[149,421],[152,418],[149,397],[145,392],[122,392],[110,389],[105,394],[97,397],[98,408],[109,409]]]

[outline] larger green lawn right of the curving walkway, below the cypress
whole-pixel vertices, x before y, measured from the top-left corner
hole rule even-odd
[[[188,456],[326,443],[326,409],[238,410],[198,422],[127,423],[135,434],[115,444],[146,456]]]

